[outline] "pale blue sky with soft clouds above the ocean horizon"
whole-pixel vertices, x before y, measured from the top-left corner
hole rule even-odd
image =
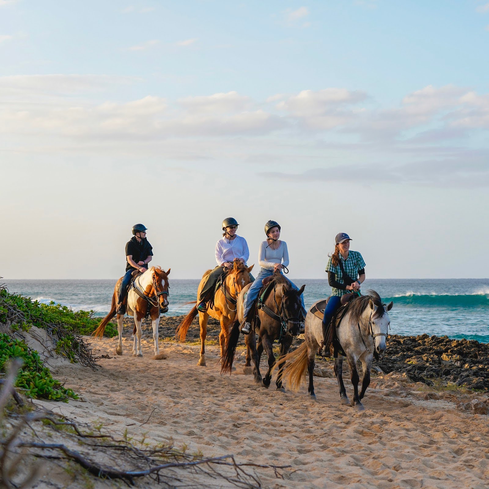
[[[489,277],[489,3],[0,0],[0,276],[200,278],[235,217],[290,275]],[[258,267],[258,265],[256,265]]]

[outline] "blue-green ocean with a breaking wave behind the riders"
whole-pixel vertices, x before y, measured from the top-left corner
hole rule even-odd
[[[115,280],[7,280],[12,293],[39,302],[54,301],[73,310],[93,310],[105,316],[110,309]],[[331,294],[327,280],[294,280],[306,284],[306,308]],[[186,314],[195,301],[199,280],[170,278],[170,306],[166,315]],[[392,333],[427,333],[489,343],[489,279],[367,279],[362,291],[376,290],[384,302],[394,301],[389,312]]]

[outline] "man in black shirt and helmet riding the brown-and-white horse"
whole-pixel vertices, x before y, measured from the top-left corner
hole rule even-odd
[[[126,274],[122,279],[121,288],[119,289],[119,305],[117,314],[125,314],[126,306],[122,301],[126,297],[127,288],[131,281],[131,275],[134,270],[145,272],[148,263],[153,258],[153,247],[146,239],[147,227],[143,224],[133,225],[133,237],[126,243]]]

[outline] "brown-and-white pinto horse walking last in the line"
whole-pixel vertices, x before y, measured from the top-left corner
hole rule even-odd
[[[141,350],[141,336],[143,334],[141,330],[141,321],[146,316],[148,311],[152,324],[153,324],[153,339],[155,340],[155,357],[159,355],[158,346],[158,324],[159,324],[159,310],[168,308],[168,275],[170,274],[170,268],[165,272],[161,267],[150,267],[141,275],[138,275],[134,279],[134,286],[140,292],[140,295],[136,292],[133,286],[130,286],[127,294],[127,313],[129,316],[134,316],[134,330],[133,330],[133,356],[143,356]],[[116,314],[115,309],[117,305],[117,297],[119,295],[119,288],[122,282],[122,277],[117,281],[112,295],[111,311],[104,317],[99,327],[92,333],[94,336],[102,337],[104,335],[105,327],[109,321],[117,315],[117,330],[119,332],[119,342],[115,352],[117,355],[122,355],[122,322],[124,320],[124,314]],[[141,297],[143,295],[144,297]],[[136,347],[137,336],[137,347]]]

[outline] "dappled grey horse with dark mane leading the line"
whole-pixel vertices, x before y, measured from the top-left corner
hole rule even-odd
[[[314,306],[316,304],[317,302],[314,303]],[[351,404],[358,410],[364,409],[360,401],[363,399],[365,391],[370,384],[370,369],[374,352],[377,356],[382,355],[385,351],[385,339],[390,326],[387,311],[392,309],[392,305],[392,302],[387,305],[382,304],[382,299],[378,293],[375,290],[369,290],[367,295],[352,299],[347,312],[339,324],[335,325],[336,335],[343,351],[346,353],[354,390],[353,400],[350,403],[343,384],[343,356],[339,355],[334,360],[334,374],[338,380],[341,404]],[[304,336],[304,343],[281,360],[282,362],[288,360],[292,362],[285,368],[284,379],[287,387],[297,392],[302,379],[305,378],[307,369],[309,372],[309,395],[315,400],[312,372],[314,371],[316,352],[323,339],[323,327],[321,319],[311,311],[306,316],[306,332]],[[359,377],[356,370],[357,360],[361,361],[363,371],[362,389],[359,395]]]

